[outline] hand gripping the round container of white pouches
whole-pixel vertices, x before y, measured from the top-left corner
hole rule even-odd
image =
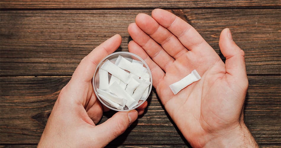
[[[59,93],[38,147],[104,147],[143,114],[147,102],[137,110],[117,112],[96,125],[109,108],[98,101],[93,91],[93,74],[97,64],[120,44],[121,36],[116,34],[83,58]]]

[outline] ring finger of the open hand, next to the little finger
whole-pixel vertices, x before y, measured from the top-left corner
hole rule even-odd
[[[151,59],[164,71],[175,61],[157,42],[143,32],[136,23],[128,26],[132,39],[140,45]]]

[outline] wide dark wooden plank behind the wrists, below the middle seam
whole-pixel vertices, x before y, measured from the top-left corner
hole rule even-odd
[[[259,144],[280,144],[281,76],[249,76],[245,122]],[[1,77],[1,144],[37,144],[70,77]],[[109,111],[101,120],[114,114]],[[111,144],[186,144],[152,90],[144,116]]]

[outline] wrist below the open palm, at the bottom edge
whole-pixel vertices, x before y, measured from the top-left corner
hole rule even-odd
[[[247,126],[240,123],[231,130],[220,131],[214,134],[204,147],[258,147]]]

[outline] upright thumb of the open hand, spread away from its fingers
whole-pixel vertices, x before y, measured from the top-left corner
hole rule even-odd
[[[219,37],[219,48],[226,58],[225,70],[227,74],[230,74],[235,80],[248,82],[244,58],[245,53],[233,41],[229,28],[222,30]]]

